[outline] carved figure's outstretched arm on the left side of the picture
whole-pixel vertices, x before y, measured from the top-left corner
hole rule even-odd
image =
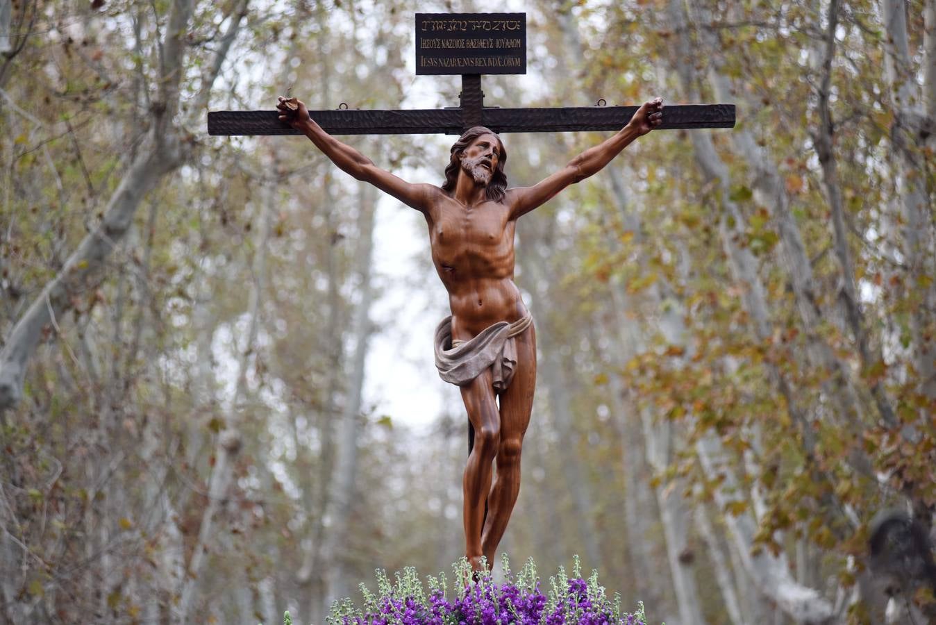
[[[381,191],[396,197],[417,211],[426,211],[432,197],[442,193],[439,187],[406,182],[389,171],[377,167],[370,158],[322,130],[322,127],[309,117],[309,110],[305,105],[295,97],[287,99],[280,96],[276,108],[280,111],[281,121],[312,139],[315,147],[339,168],[359,181],[370,182]]]

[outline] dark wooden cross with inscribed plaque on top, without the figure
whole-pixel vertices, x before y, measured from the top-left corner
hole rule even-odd
[[[461,106],[451,109],[310,110],[329,135],[461,135],[472,126],[496,133],[621,130],[637,107],[501,109],[484,106],[482,74],[526,73],[525,13],[417,13],[417,74],[461,74]],[[277,110],[208,113],[209,135],[300,135]],[[735,105],[667,105],[657,129],[732,128]]]

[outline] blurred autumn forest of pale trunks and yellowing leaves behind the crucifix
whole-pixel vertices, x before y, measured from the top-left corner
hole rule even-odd
[[[389,283],[372,189],[205,125],[289,85],[455,106],[414,76],[417,10],[527,12],[489,105],[738,105],[521,220],[515,566],[578,554],[669,625],[883,622],[870,521],[936,503],[934,0],[0,3],[0,620],[321,623],[376,567],[461,555],[465,417],[362,391],[402,341],[374,302],[445,303],[428,244]],[[506,135],[509,180],[606,136]],[[345,139],[436,183],[454,140]],[[911,577],[894,622],[925,622]]]

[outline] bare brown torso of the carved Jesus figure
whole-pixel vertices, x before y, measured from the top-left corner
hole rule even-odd
[[[448,291],[453,339],[467,341],[491,324],[527,314],[513,280],[517,222],[508,204],[468,207],[440,194],[424,214],[432,263]]]

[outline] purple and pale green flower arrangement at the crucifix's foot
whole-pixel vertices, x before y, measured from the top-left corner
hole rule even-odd
[[[356,607],[350,599],[331,607],[329,625],[645,625],[643,603],[636,613],[621,611],[621,595],[609,600],[598,574],[586,580],[581,575],[578,556],[572,576],[563,567],[549,578],[549,590],[543,594],[531,558],[514,576],[506,555],[503,559],[505,581],[495,584],[490,571],[475,575],[462,558],[453,565],[455,592],[446,594],[446,575],[428,577],[429,593],[413,567],[395,574],[391,583],[386,572],[377,570],[377,592],[360,585],[364,603]],[[289,625],[289,613],[285,615]]]

